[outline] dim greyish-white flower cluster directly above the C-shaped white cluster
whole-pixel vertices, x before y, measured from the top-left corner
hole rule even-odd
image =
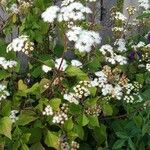
[[[117,39],[114,45],[118,46],[118,52],[125,52],[127,51],[125,39]]]

